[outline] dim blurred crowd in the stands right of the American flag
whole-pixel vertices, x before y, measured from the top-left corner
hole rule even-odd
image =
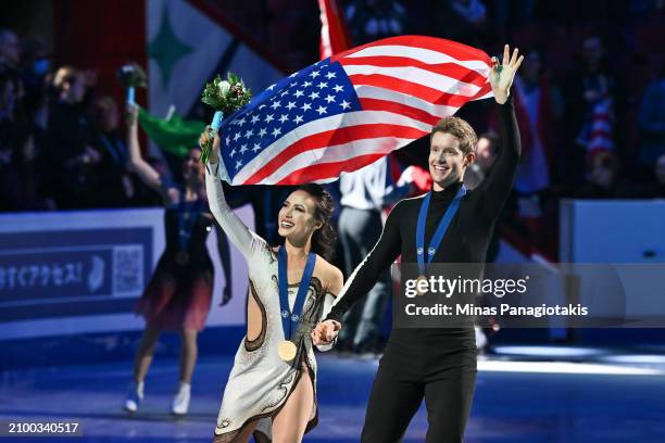
[[[291,69],[317,59],[316,2],[211,3],[246,30],[262,29],[252,35]],[[514,88],[524,155],[503,227],[513,227],[545,256],[557,256],[562,198],[665,198],[665,2],[341,4],[354,45],[416,34],[460,41],[490,55],[500,55],[507,42],[527,54]],[[459,115],[478,134],[495,134],[490,100],[468,103]],[[489,144],[500,149],[495,141]]]

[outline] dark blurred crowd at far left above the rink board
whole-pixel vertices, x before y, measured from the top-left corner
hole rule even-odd
[[[128,173],[123,112],[96,85],[92,71],[54,68],[42,41],[0,29],[0,211],[158,203]]]

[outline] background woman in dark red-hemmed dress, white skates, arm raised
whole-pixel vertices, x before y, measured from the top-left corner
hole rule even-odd
[[[197,334],[203,329],[210,311],[213,264],[205,240],[213,218],[206,211],[204,169],[201,151],[192,149],[183,163],[184,188],[161,176],[142,157],[138,142],[138,107],[128,105],[129,166],[139,179],[162,195],[166,248],[152,279],[139,300],[137,313],[146,318],[146,330],[134,366],[134,382],[125,400],[125,409],[135,413],[143,397],[143,380],[152,363],[156,341],[164,330],[181,337],[180,379],[172,404],[174,415],[189,408],[191,375],[197,359]]]

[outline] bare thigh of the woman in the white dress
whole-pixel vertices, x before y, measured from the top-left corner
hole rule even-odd
[[[289,400],[273,419],[273,443],[300,443],[313,406],[312,379],[310,374],[303,369],[302,377]]]

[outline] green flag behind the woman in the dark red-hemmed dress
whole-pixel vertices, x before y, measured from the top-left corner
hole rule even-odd
[[[184,121],[175,114],[166,121],[143,109],[139,110],[139,123],[160,149],[181,157],[199,145],[199,136],[205,129],[203,122]]]

